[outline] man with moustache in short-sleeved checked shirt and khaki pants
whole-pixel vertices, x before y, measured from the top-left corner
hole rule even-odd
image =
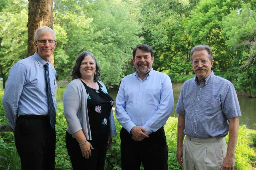
[[[183,84],[175,110],[179,114],[177,160],[185,170],[234,169],[241,116],[234,86],[214,75],[208,45],[192,48],[190,59],[196,76]]]

